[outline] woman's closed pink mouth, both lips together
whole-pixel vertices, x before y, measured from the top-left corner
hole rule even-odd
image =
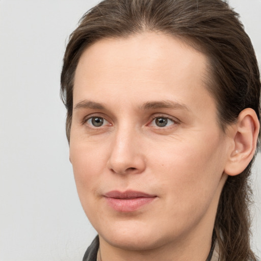
[[[118,212],[133,212],[156,199],[156,195],[140,191],[110,191],[105,194],[105,199],[110,207]]]

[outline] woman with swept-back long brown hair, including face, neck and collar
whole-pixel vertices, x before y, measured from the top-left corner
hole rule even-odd
[[[256,260],[248,186],[260,79],[220,0],[105,0],[71,34],[61,92],[84,260]]]

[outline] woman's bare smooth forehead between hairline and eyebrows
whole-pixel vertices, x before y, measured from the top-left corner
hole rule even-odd
[[[102,39],[88,47],[79,60],[73,103],[90,96],[98,102],[105,97],[109,100],[115,93],[133,102],[158,97],[184,103],[196,96],[201,102],[200,95],[206,94],[206,68],[205,55],[163,33]],[[192,97],[191,93],[198,95]]]

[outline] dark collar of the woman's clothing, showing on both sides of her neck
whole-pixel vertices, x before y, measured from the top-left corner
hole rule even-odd
[[[97,236],[91,245],[87,248],[83,261],[96,261],[97,260],[97,252],[99,249],[99,237]],[[206,261],[218,261],[218,248],[213,244]]]

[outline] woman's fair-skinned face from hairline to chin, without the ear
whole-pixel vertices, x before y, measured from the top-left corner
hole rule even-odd
[[[84,211],[110,245],[211,236],[228,145],[206,67],[203,54],[156,33],[103,39],[83,53],[70,161]]]

